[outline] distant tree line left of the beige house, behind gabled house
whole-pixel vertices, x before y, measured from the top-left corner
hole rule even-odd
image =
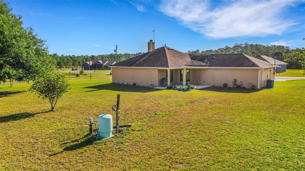
[[[124,61],[129,58],[133,58],[135,56],[138,56],[140,54],[143,54],[142,52],[138,52],[135,54],[117,54],[117,61]],[[80,67],[85,61],[88,61],[90,59],[109,59],[109,60],[115,60],[115,54],[102,54],[102,55],[61,55],[58,54],[51,54],[51,57],[56,60],[57,57],[57,65],[58,68],[71,68],[71,67]]]

